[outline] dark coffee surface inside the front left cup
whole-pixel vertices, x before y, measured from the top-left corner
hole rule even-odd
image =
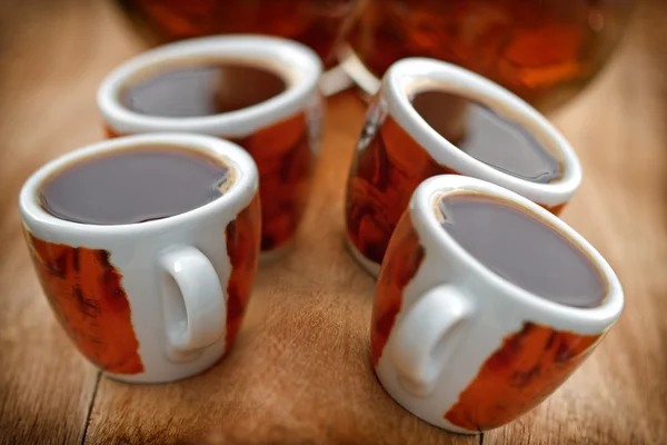
[[[68,166],[43,182],[40,200],[49,214],[69,221],[135,224],[193,210],[231,184],[233,170],[203,152],[138,147]]]

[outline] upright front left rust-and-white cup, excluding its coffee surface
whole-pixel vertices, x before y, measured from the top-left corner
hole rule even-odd
[[[61,219],[42,205],[50,178],[142,147],[219,160],[232,182],[193,210],[138,224]],[[155,134],[94,144],[47,164],[20,192],[26,240],[56,317],[88,360],[123,382],[159,383],[210,367],[232,346],[259,258],[258,175],[235,144]]]

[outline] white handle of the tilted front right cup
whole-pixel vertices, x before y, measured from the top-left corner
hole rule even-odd
[[[472,315],[472,304],[456,287],[442,285],[422,295],[392,336],[391,356],[407,392],[430,394],[454,349],[456,328]]]

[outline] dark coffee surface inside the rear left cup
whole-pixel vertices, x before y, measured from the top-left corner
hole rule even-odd
[[[282,78],[260,68],[209,63],[173,67],[130,82],[122,89],[120,100],[142,115],[188,118],[247,108],[285,88]]]

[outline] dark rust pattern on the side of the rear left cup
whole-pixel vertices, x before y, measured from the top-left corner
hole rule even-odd
[[[318,118],[316,118],[318,119]],[[315,165],[313,128],[306,112],[257,130],[245,138],[228,139],[252,156],[259,170],[261,249],[288,245],[306,209]],[[107,137],[122,136],[106,126]],[[316,139],[316,138],[315,138]]]

